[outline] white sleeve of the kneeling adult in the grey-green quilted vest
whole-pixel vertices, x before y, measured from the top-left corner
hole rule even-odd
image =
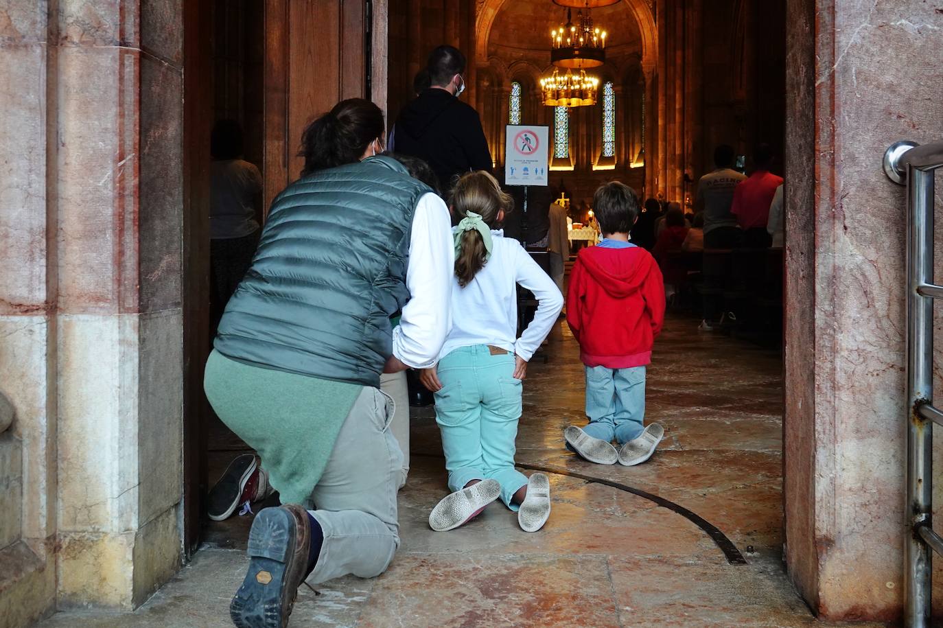
[[[454,266],[449,208],[436,194],[424,194],[416,205],[409,240],[406,289],[411,296],[393,329],[393,355],[406,366],[427,369],[437,362],[452,326]]]

